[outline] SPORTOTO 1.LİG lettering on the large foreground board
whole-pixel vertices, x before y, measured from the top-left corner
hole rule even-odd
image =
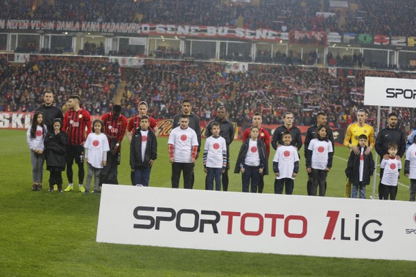
[[[308,218],[284,213],[241,213],[239,211],[175,209],[171,207],[137,206],[133,210],[133,229],[161,231],[175,228],[179,232],[214,233],[245,236],[270,236],[301,239],[308,235]],[[329,220],[323,240],[362,240],[377,242],[383,237],[379,220],[355,220],[340,217],[340,211],[328,211]],[[224,222],[220,224],[220,222]],[[237,227],[238,226],[238,227]],[[311,231],[313,233],[313,231]]]

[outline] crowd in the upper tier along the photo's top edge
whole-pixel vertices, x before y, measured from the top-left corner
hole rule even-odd
[[[331,7],[329,0],[261,0],[258,6],[221,0],[3,0],[0,19],[236,26],[240,18],[250,29],[415,35],[413,0],[346,2],[343,9]]]

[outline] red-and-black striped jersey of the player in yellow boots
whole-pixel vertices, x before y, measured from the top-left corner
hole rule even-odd
[[[85,131],[87,127],[87,131]],[[80,145],[87,139],[89,133],[91,133],[91,118],[89,112],[85,109],[79,109],[74,111],[70,109],[64,115],[64,123],[62,125],[62,131],[68,134],[69,145]]]

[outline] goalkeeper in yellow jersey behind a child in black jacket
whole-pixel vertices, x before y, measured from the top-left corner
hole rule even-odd
[[[349,148],[350,151],[354,151],[356,154],[360,154],[360,148],[358,148],[358,136],[365,134],[368,137],[368,147],[364,154],[370,154],[374,148],[375,136],[374,128],[367,123],[367,111],[365,109],[358,109],[357,111],[357,122],[352,123],[348,126],[347,132],[345,132],[344,145]],[[351,183],[349,179],[345,182],[345,197],[351,197]]]

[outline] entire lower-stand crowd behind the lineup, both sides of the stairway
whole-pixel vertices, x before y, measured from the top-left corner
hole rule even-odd
[[[264,124],[281,124],[281,114],[291,111],[297,125],[311,125],[313,114],[326,111],[331,127],[344,128],[355,120],[357,109],[369,111],[375,125],[376,107],[363,105],[365,76],[416,78],[416,73],[336,69],[315,66],[249,64],[247,71],[225,71],[225,64],[193,61],[146,60],[144,66],[125,68],[121,105],[123,114],[135,116],[137,104],[146,101],[150,116],[171,119],[184,99],[208,122],[224,106],[238,125],[250,123],[257,111]],[[100,58],[61,57],[10,66],[0,59],[2,111],[34,111],[46,89],[55,91],[58,107],[76,93],[92,115],[112,109],[121,81],[118,64]],[[415,126],[414,109],[397,108],[401,129]],[[381,127],[385,126],[383,111]]]

